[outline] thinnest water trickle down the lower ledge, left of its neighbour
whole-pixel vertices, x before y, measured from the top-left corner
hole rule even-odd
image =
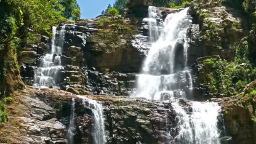
[[[71,115],[69,120],[69,128],[67,132],[67,138],[69,144],[74,144],[74,130],[75,130],[75,99],[72,99]]]

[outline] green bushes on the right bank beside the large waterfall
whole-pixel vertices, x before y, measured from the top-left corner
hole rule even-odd
[[[200,70],[201,83],[208,85],[211,93],[233,96],[256,79],[256,68],[248,60],[248,44],[245,41],[237,48],[235,62],[216,59],[203,61]]]

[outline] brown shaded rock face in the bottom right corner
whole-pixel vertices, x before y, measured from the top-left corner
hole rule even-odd
[[[236,96],[213,99],[222,105],[227,135],[232,136],[231,144],[256,143],[256,81],[248,84]],[[245,134],[246,133],[246,134]]]

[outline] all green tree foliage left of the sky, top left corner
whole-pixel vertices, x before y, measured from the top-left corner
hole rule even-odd
[[[1,0],[0,43],[37,44],[38,33],[51,37],[51,27],[65,18],[80,19],[76,0]]]

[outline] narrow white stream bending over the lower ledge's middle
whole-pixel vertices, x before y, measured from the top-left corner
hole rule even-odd
[[[91,100],[83,96],[79,96],[83,99],[83,105],[88,109],[91,109],[93,113],[93,125],[92,125],[92,136],[94,144],[105,144],[105,124],[104,124],[104,115],[103,107],[100,101]]]

